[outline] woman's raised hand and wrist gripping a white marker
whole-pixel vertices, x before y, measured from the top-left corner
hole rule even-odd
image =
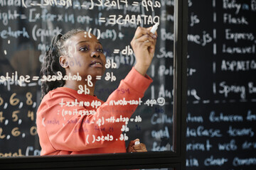
[[[149,69],[156,49],[157,33],[151,33],[151,28],[138,27],[131,42],[136,58],[134,68],[143,76]]]

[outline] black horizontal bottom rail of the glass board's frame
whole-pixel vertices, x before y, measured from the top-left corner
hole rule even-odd
[[[178,157],[167,157],[164,153],[124,153],[65,155],[44,157],[10,157],[1,160],[1,169],[183,169]],[[150,157],[151,156],[151,157]]]

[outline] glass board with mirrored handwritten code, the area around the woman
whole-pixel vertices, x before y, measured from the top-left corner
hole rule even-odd
[[[39,72],[54,35],[83,28],[99,38],[110,67],[97,81],[95,95],[105,101],[135,63],[129,45],[134,31],[155,23],[159,23],[159,36],[148,70],[154,81],[123,135],[127,143],[139,138],[149,151],[170,151],[174,0],[1,0],[0,157],[40,155],[36,129],[36,111],[41,103]]]

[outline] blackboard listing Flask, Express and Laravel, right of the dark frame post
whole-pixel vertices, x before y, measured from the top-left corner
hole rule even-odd
[[[187,169],[256,167],[256,1],[188,1]]]

